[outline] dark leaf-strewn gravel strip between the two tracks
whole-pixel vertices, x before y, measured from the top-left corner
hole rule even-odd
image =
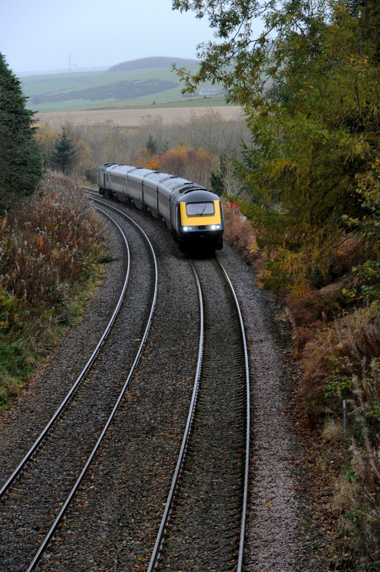
[[[157,222],[112,205],[133,216],[150,237],[158,260],[157,303],[97,463],[39,570],[146,570],[185,430],[199,343],[193,272]]]

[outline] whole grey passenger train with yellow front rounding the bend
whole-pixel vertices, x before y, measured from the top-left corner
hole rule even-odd
[[[201,185],[142,167],[105,163],[98,168],[98,186],[103,197],[157,219],[181,252],[213,256],[223,248],[221,199]]]

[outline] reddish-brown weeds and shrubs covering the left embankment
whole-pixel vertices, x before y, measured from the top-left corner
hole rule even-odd
[[[38,195],[0,225],[0,392],[17,395],[38,353],[78,312],[102,226],[74,181],[47,172]]]

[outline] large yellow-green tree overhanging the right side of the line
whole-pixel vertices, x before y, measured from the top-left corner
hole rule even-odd
[[[361,215],[355,175],[380,153],[380,5],[375,0],[174,0],[207,16],[217,40],[198,46],[187,91],[221,82],[252,135],[242,204],[274,288],[305,296],[331,279],[342,215]],[[254,37],[252,22],[265,29]],[[266,92],[266,97],[263,93]]]

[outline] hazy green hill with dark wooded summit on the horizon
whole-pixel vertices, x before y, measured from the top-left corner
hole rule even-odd
[[[225,105],[223,95],[183,97],[177,74],[170,70],[173,61],[187,65],[191,73],[199,69],[191,59],[152,57],[108,70],[29,76],[21,81],[29,97],[27,106],[35,111]]]

